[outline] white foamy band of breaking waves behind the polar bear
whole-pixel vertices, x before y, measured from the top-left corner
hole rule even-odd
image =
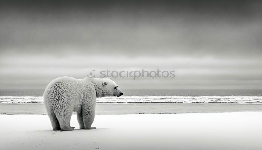
[[[97,98],[96,102],[262,104],[262,96],[112,96]],[[43,96],[0,96],[0,103],[43,103]]]

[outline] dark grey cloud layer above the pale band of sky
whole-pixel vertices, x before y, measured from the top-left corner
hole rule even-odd
[[[2,51],[261,54],[259,1],[26,2],[2,5]]]

